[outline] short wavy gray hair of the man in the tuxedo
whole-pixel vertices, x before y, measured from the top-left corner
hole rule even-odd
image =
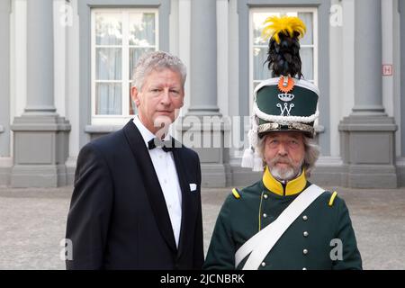
[[[184,88],[187,72],[183,62],[180,58],[164,51],[154,51],[144,54],[139,58],[137,65],[133,69],[132,86],[137,87],[140,91],[144,84],[145,77],[148,76],[150,72],[164,68],[178,72],[182,77],[182,85]]]

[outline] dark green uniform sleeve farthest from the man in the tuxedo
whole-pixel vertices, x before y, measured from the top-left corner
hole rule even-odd
[[[335,244],[337,253],[334,255],[338,258],[332,262],[333,270],[361,270],[362,258],[357,248],[355,230],[350,220],[349,211],[346,202],[342,199],[339,201],[338,208],[338,229],[337,244]],[[339,241],[341,240],[341,242]],[[339,245],[342,245],[341,255],[339,255]],[[332,247],[333,248],[333,247]],[[341,257],[340,257],[341,256]]]

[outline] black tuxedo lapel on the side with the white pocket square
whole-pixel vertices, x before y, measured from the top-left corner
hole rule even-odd
[[[182,224],[180,229],[177,258],[181,257],[183,253],[184,245],[187,243],[186,238],[193,237],[193,229],[191,228],[195,222],[195,211],[193,209],[193,199],[191,197],[192,194],[190,193],[190,187],[185,177],[186,174],[184,173],[186,169],[186,167],[184,167],[184,163],[187,161],[184,159],[183,151],[183,148],[175,148],[173,150],[175,169],[177,170],[178,181],[182,190]]]

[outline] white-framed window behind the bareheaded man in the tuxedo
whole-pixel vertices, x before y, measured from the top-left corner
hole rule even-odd
[[[158,49],[157,22],[157,9],[92,10],[92,124],[120,125],[136,113],[132,70]]]

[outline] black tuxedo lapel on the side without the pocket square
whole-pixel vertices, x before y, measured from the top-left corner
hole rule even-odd
[[[175,236],[173,235],[165,197],[157,179],[152,160],[148,154],[145,141],[142,139],[142,135],[132,120],[124,126],[123,131],[130,144],[130,150],[135,156],[136,163],[139,166],[139,173],[144,180],[148,201],[155,215],[158,229],[162,237],[165,238],[167,245],[175,252]]]

